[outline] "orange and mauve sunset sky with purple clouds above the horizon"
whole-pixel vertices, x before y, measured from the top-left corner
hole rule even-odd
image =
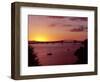
[[[28,16],[29,41],[60,41],[87,39],[87,17]]]

